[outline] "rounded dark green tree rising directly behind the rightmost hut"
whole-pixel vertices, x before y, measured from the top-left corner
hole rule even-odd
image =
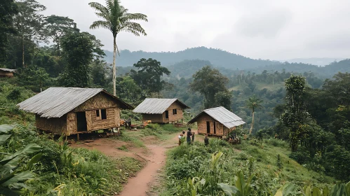
[[[194,81],[190,83],[191,90],[200,92],[205,97],[204,107],[206,109],[215,106],[215,94],[227,92],[229,78],[223,76],[217,69],[204,66],[193,75]]]

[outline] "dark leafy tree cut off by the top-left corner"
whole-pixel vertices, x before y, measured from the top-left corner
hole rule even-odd
[[[13,29],[13,16],[18,9],[13,0],[2,0],[0,2],[0,62],[6,58],[6,47],[8,45],[8,34],[15,33]]]

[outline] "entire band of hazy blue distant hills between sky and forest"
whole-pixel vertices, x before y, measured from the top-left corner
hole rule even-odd
[[[106,50],[105,53],[107,55],[105,60],[112,63],[113,52]],[[116,59],[116,66],[128,67],[126,70],[130,70],[131,66],[141,58],[157,59],[163,66],[168,67],[173,76],[178,78],[190,78],[193,73],[206,65],[218,67],[223,73],[231,73],[235,70],[246,70],[252,73],[262,73],[264,70],[269,72],[285,70],[294,73],[311,71],[321,78],[330,78],[339,71],[350,72],[350,59],[336,62],[335,58],[299,58],[281,62],[269,59],[251,59],[224,50],[205,47],[188,48],[178,52],[121,50],[120,57],[117,56]]]

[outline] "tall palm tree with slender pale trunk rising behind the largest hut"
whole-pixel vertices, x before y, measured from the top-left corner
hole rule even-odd
[[[101,18],[93,22],[90,29],[105,28],[113,34],[113,94],[116,95],[116,51],[119,49],[116,46],[116,35],[121,31],[132,33],[135,36],[140,34],[147,36],[146,31],[141,27],[139,23],[133,22],[133,20],[147,20],[147,15],[142,13],[128,13],[128,9],[121,6],[119,0],[106,0],[107,6],[102,6],[101,3],[91,2],[88,3],[91,8],[96,10],[96,15]]]

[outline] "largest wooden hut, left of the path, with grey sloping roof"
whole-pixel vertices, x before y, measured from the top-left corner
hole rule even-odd
[[[120,110],[133,109],[102,88],[79,87],[50,87],[18,106],[35,113],[39,130],[64,135],[119,127]]]

